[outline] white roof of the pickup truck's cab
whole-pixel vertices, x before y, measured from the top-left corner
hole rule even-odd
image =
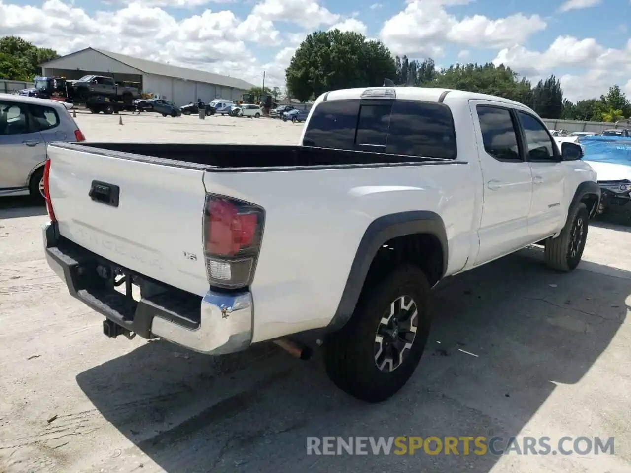
[[[396,93],[396,98],[406,100],[427,100],[430,102],[438,102],[440,95],[448,92],[450,99],[456,98],[460,100],[493,100],[495,102],[506,103],[508,105],[519,105],[520,107],[525,107],[523,103],[519,103],[515,100],[510,100],[508,98],[502,98],[495,95],[487,95],[485,93],[468,92],[456,89],[441,89],[435,87],[362,87],[355,89],[333,90],[326,93],[326,100],[360,98],[362,93],[369,89],[374,91],[394,90],[394,92]]]

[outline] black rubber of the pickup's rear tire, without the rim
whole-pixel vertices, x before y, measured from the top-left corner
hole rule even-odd
[[[375,361],[375,335],[384,313],[401,296],[416,304],[416,335],[403,362],[386,373]],[[427,276],[411,265],[399,266],[365,287],[347,324],[327,336],[324,363],[331,381],[366,402],[381,402],[396,394],[414,373],[425,349],[431,324],[430,296]]]

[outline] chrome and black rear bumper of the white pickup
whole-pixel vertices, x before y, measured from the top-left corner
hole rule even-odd
[[[249,291],[209,290],[200,298],[152,281],[154,295],[134,301],[98,276],[97,267],[117,267],[114,262],[60,237],[54,223],[45,225],[43,233],[46,260],[70,295],[123,329],[206,354],[235,353],[250,346],[253,305]],[[129,274],[142,286],[143,275]]]

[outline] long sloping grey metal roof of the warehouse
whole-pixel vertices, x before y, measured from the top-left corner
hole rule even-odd
[[[235,89],[248,90],[255,85],[245,82],[242,79],[220,76],[219,74],[207,73],[204,71],[196,71],[195,69],[187,69],[186,67],[172,66],[163,62],[148,61],[148,59],[140,59],[139,57],[128,56],[119,52],[107,51],[105,49],[87,48],[100,52],[106,56],[115,59],[115,61],[134,67],[145,74],[154,74],[156,76],[173,77],[176,79],[184,79],[187,81],[203,82],[207,84],[221,85],[224,87],[233,87]],[[62,58],[59,58],[62,59]],[[58,59],[55,59],[58,61]]]

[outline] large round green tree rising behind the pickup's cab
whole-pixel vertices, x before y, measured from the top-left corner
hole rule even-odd
[[[327,90],[380,86],[396,73],[390,51],[355,32],[314,32],[305,38],[285,71],[288,91],[305,102]]]

